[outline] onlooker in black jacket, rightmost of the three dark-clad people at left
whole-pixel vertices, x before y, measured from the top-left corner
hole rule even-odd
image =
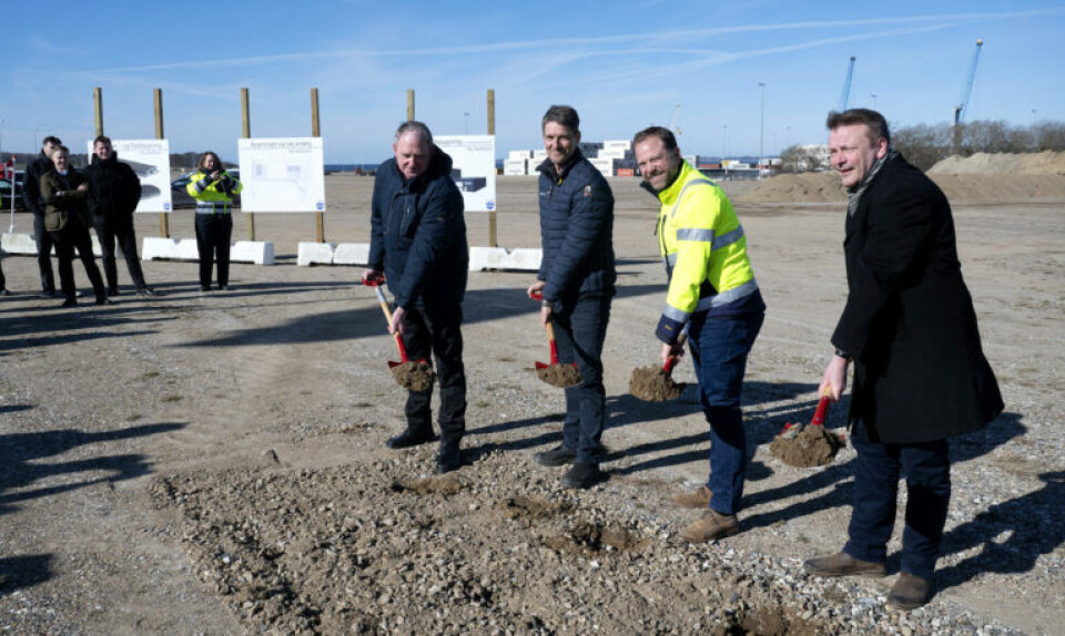
[[[89,212],[100,239],[103,275],[108,279],[108,296],[119,295],[119,271],[114,261],[114,244],[118,240],[125,256],[125,266],[138,294],[154,296],[155,291],[144,283],[141,259],[136,255],[136,233],[133,229],[133,213],[141,201],[141,179],[129,164],[119,161],[111,146],[111,139],[98,136],[92,142],[92,164],[85,168],[89,179]]]

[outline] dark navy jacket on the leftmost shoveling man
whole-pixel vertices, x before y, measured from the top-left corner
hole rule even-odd
[[[452,157],[436,146],[425,174],[413,181],[404,179],[395,157],[377,168],[368,265],[384,269],[397,307],[463,301],[469,276],[464,209]]]

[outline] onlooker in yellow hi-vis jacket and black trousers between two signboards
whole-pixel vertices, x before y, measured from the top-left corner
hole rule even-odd
[[[230,242],[233,236],[233,195],[244,189],[213,152],[200,155],[197,172],[185,191],[196,199],[196,250],[200,290],[211,290],[211,273],[219,263],[219,289],[230,289]]]

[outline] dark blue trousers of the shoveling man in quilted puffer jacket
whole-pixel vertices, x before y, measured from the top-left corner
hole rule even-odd
[[[607,390],[602,386],[602,341],[607,338],[612,296],[580,297],[572,310],[554,314],[558,361],[577,362],[581,382],[566,389],[562,445],[581,463],[599,463],[599,440],[607,423]]]

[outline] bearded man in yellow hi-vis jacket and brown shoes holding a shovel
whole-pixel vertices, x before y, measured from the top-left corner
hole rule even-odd
[[[765,316],[765,304],[747,255],[747,237],[721,188],[680,156],[677,139],[663,127],[632,140],[643,187],[661,202],[657,236],[669,291],[655,335],[662,362],[683,353],[687,329],[699,398],[710,423],[710,476],[694,493],[673,497],[702,516],[680,533],[703,543],[740,532],[736,514],[743,499],[747,435],[740,394],[747,356]]]

